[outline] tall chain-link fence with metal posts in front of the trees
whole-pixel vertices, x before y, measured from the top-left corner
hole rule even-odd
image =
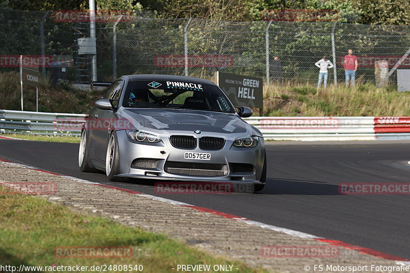
[[[56,22],[50,11],[0,9],[0,71],[18,69],[10,56],[46,56],[51,60],[40,71],[51,80],[88,83],[91,55],[78,54],[77,41],[89,37],[89,29],[87,22]],[[210,78],[223,71],[271,82],[314,83],[319,72],[314,64],[326,55],[336,65],[329,71],[329,83],[335,75],[342,82],[343,56],[352,48],[359,62],[356,78],[375,82],[376,60],[387,60],[392,68],[410,48],[410,26],[220,22],[134,14],[117,24],[96,22],[96,46],[98,80],[142,73]],[[409,67],[406,58],[399,68]],[[396,82],[396,73],[389,82]]]

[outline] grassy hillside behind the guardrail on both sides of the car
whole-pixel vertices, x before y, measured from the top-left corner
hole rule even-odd
[[[0,90],[0,109],[20,110],[18,73],[0,73]],[[65,85],[53,87],[46,79],[39,88],[38,109],[88,114],[102,94]],[[263,104],[264,116],[410,116],[410,92],[400,93],[395,87],[376,88],[368,83],[355,88],[340,83],[337,88],[327,89],[271,84],[264,88]],[[35,111],[35,88],[24,87],[24,110]]]

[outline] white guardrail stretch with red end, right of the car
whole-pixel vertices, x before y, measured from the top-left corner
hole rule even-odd
[[[410,139],[410,117],[250,117],[265,139]]]

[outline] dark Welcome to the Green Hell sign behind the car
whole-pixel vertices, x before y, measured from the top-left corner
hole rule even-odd
[[[219,87],[235,106],[263,108],[262,78],[216,72]]]

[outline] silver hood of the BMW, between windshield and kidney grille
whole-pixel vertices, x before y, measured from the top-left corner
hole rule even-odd
[[[252,134],[252,127],[235,114],[184,109],[122,109],[118,112],[136,129]]]

